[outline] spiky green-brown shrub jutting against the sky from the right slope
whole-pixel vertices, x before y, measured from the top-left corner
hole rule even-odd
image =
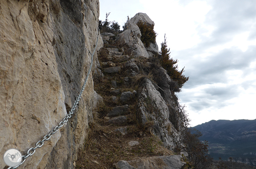
[[[186,81],[188,81],[189,77],[185,77],[183,75],[184,72],[184,68],[182,70],[178,70],[178,65],[176,65],[176,63],[178,63],[177,59],[170,59],[170,48],[167,48],[167,44],[166,44],[166,37],[165,37],[165,41],[161,43],[161,66],[167,71],[168,75],[170,76],[171,79],[173,79],[174,81],[177,82],[177,84],[173,84],[172,86],[170,86],[170,90],[173,92],[180,92],[182,86],[184,85],[184,83],[186,83]]]

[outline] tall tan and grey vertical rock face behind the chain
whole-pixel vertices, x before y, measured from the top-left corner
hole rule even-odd
[[[80,92],[96,44],[99,2],[7,0],[0,7],[0,152],[16,148],[24,155],[62,121]],[[99,37],[96,49],[102,45]],[[67,125],[19,168],[74,168],[93,92],[90,74]]]

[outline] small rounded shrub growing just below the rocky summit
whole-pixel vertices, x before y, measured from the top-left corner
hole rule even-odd
[[[145,22],[139,21],[137,23],[141,32],[141,41],[146,47],[150,46],[150,43],[156,42],[156,32],[154,31],[154,26],[147,25]]]

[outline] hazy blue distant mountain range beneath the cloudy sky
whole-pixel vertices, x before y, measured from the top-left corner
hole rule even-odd
[[[211,120],[195,127],[208,141],[209,155],[228,161],[256,166],[256,119],[255,120]]]

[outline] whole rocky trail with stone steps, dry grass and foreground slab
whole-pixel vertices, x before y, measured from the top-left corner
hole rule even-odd
[[[180,156],[165,148],[153,132],[153,123],[141,125],[136,120],[141,79],[148,78],[140,62],[147,59],[125,55],[127,51],[113,42],[114,34],[101,36],[105,44],[94,74],[98,100],[93,110],[95,121],[90,125],[76,169],[180,168],[184,165]]]

